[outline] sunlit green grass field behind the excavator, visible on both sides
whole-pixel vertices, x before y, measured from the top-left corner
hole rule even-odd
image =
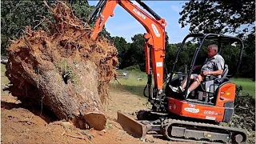
[[[147,82],[146,73],[132,70],[118,70],[118,74],[122,74],[122,72],[127,72],[128,74],[127,78],[118,77],[118,81],[122,85],[119,85],[116,81],[112,81],[110,83],[110,88],[127,90],[132,94],[143,97],[143,90]],[[139,81],[138,78],[142,78],[143,80]],[[255,97],[255,82],[253,82],[250,78],[231,78],[231,81],[234,82],[237,86],[242,86],[240,95],[244,96],[249,94],[250,96]]]

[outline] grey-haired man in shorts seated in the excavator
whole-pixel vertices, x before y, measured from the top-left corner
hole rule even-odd
[[[206,58],[206,62],[200,66],[194,66],[194,70],[201,69],[200,74],[191,74],[190,79],[194,80],[194,82],[190,85],[187,90],[186,98],[190,94],[191,91],[195,90],[200,84],[205,80],[205,76],[210,76],[213,78],[220,78],[223,74],[225,61],[222,58],[222,55],[218,54],[218,46],[215,44],[209,45],[207,48],[208,58]],[[186,88],[186,79],[182,82],[182,86],[170,88],[176,92],[184,92]]]

